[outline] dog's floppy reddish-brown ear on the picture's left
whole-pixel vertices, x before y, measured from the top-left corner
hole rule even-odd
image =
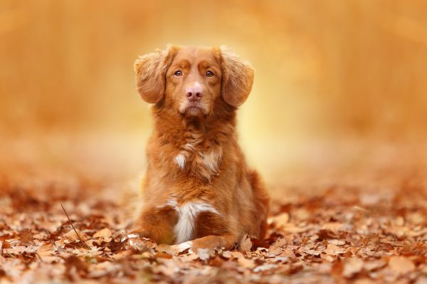
[[[157,50],[139,58],[134,63],[137,90],[146,102],[156,103],[162,100],[166,85],[166,71],[176,54],[176,46]]]

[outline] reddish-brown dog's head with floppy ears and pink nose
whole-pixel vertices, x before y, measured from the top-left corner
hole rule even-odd
[[[223,46],[169,46],[138,58],[135,72],[137,90],[146,102],[186,117],[210,115],[223,103],[238,107],[253,83],[251,66]]]

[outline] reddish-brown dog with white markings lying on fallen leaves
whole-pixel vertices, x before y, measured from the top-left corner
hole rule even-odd
[[[224,46],[168,46],[134,67],[154,117],[134,232],[179,252],[231,249],[245,234],[264,238],[268,192],[236,134],[251,65]]]

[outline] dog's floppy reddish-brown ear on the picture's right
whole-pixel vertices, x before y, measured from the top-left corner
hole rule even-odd
[[[221,46],[221,67],[223,70],[223,99],[228,105],[238,107],[249,96],[253,83],[253,68],[226,46]]]

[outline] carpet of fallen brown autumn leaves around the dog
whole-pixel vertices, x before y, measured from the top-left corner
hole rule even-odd
[[[423,186],[334,186],[317,194],[283,189],[295,198],[273,201],[264,241],[244,236],[236,250],[194,253],[128,233],[129,220],[115,202],[100,197],[107,190],[102,186],[1,186],[0,283],[427,281]],[[93,196],[79,198],[79,191],[91,190]]]

